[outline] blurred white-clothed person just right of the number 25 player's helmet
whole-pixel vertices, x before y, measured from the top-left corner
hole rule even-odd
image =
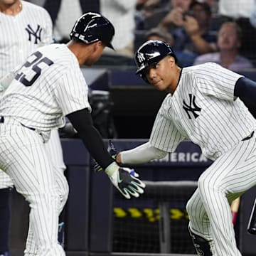
[[[115,28],[112,41],[115,51],[105,49],[104,53],[133,58],[136,4],[137,0],[100,1],[100,12],[113,23]]]

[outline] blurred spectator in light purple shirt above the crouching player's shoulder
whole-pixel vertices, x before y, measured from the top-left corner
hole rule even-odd
[[[196,58],[194,65],[213,62],[230,70],[253,68],[247,58],[239,54],[242,31],[237,23],[225,22],[218,32],[218,53],[208,53]]]

